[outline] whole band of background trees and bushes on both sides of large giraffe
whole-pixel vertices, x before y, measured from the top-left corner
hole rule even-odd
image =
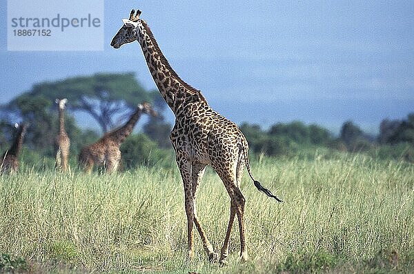
[[[53,157],[53,141],[58,130],[56,98],[68,99],[66,130],[71,139],[70,154],[79,153],[82,146],[92,144],[118,124],[122,124],[137,104],[148,101],[159,113],[166,108],[157,90],[146,90],[133,73],[99,73],[71,77],[59,81],[42,82],[31,90],[0,106],[0,148],[6,149],[12,139],[12,124],[26,121],[30,130],[26,148],[37,157]],[[100,128],[85,129],[77,124],[74,115],[89,115]],[[339,136],[316,124],[301,121],[276,123],[268,129],[244,123],[240,129],[248,139],[250,150],[269,156],[294,155],[304,148],[324,147],[333,150],[376,151],[381,156],[414,161],[414,112],[402,120],[384,119],[380,133],[373,137],[364,133],[353,121],[342,124]],[[172,161],[169,133],[172,128],[162,115],[148,117],[141,125],[141,133],[134,134],[121,146],[125,168],[139,164]],[[40,155],[40,156],[39,156]]]

